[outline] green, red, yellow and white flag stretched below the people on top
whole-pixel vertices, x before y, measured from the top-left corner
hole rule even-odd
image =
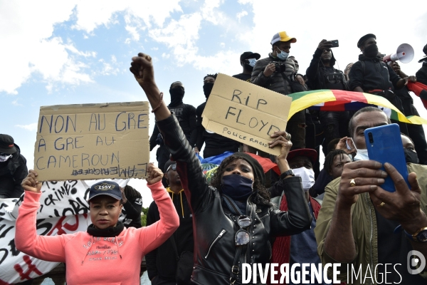
[[[292,98],[288,118],[307,108],[309,110],[322,111],[347,111],[374,106],[384,110],[384,113],[393,120],[416,125],[427,125],[427,120],[421,117],[415,115],[406,117],[389,100],[379,95],[344,90],[312,90],[292,93],[288,96]]]

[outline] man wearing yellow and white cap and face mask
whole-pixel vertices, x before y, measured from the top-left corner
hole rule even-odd
[[[272,52],[267,58],[256,61],[251,82],[283,95],[306,91],[307,88],[295,80],[295,62],[288,58],[290,44],[296,42],[297,39],[285,31],[275,33],[270,42]],[[305,148],[305,110],[290,118],[286,132],[292,136],[292,150]]]

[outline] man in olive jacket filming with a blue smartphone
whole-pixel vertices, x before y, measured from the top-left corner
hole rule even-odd
[[[339,278],[353,278],[351,284],[380,284],[384,278],[396,284],[427,284],[425,269],[420,267],[419,274],[409,272],[411,252],[418,251],[424,259],[427,254],[427,167],[406,165],[403,160],[409,174],[402,177],[396,170],[401,164],[382,165],[367,155],[364,130],[390,123],[379,108],[366,107],[354,114],[349,133],[362,159],[344,165],[341,178],[327,185],[317,219],[315,235],[322,263],[341,263]],[[382,161],[397,155],[382,151]],[[394,192],[384,186],[387,177]],[[360,266],[362,276],[371,269],[372,279],[356,278],[352,266],[356,271]]]

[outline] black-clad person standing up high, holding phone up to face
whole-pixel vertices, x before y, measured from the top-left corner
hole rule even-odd
[[[336,60],[331,48],[332,43],[327,40],[320,41],[316,48],[306,73],[307,85],[312,90],[349,90],[347,81],[344,79],[344,73],[334,68]],[[321,111],[319,112],[319,119],[325,134],[325,140],[322,143],[323,152],[327,155],[327,145],[331,140],[349,135],[347,126],[349,125],[350,113],[349,111]]]

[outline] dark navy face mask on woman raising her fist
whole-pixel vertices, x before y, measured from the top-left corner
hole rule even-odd
[[[248,199],[252,194],[252,180],[242,175],[226,175],[222,178],[221,189],[231,199]]]

